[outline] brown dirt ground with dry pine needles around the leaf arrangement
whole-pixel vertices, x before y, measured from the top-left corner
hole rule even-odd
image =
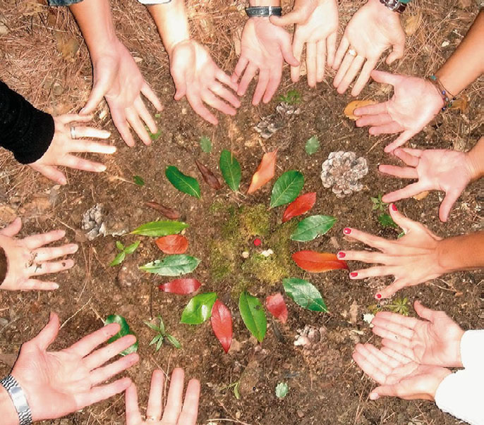
[[[35,3],[35,2],[34,2]],[[360,6],[359,1],[341,1],[339,9],[341,28]],[[71,271],[55,276],[60,284],[55,292],[0,293],[0,375],[8,373],[13,355],[20,345],[34,336],[45,323],[49,312],[61,317],[63,325],[59,338],[52,346],[61,349],[83,335],[102,326],[109,314],[126,317],[138,335],[140,362],[127,371],[140,390],[140,401],[145,406],[150,374],[156,367],[169,373],[176,366],[186,369],[187,376],[199,378],[202,383],[200,424],[456,424],[453,417],[440,412],[433,403],[384,399],[373,402],[367,396],[374,386],[363,376],[351,360],[357,342],[377,343],[363,312],[373,304],[375,289],[390,279],[349,281],[345,271],[301,275],[309,278],[322,292],[331,314],[318,314],[299,308],[286,299],[289,321],[274,325],[269,319],[267,335],[259,345],[243,325],[231,288],[236,282],[225,279],[215,283],[210,276],[210,242],[217,232],[216,220],[210,214],[210,205],[222,201],[226,205],[269,204],[272,183],[253,196],[234,195],[226,185],[214,192],[205,183],[202,199],[177,192],[164,177],[164,168],[175,165],[184,173],[201,178],[194,164],[198,158],[213,171],[218,171],[222,149],[230,149],[242,166],[246,190],[250,176],[267,149],[279,146],[277,175],[289,169],[300,170],[305,176],[303,191],[317,192],[313,214],[334,215],[338,221],[327,235],[312,242],[292,242],[291,249],[313,249],[336,252],[337,247],[349,249],[342,237],[345,226],[353,226],[376,235],[395,238],[394,230],[384,230],[372,211],[370,196],[384,194],[401,187],[401,181],[377,173],[377,165],[394,160],[383,152],[392,136],[370,137],[365,128],[356,128],[343,116],[344,106],[351,100],[349,94],[338,95],[332,88],[334,73],[329,72],[317,90],[311,90],[305,78],[291,82],[289,70],[278,94],[289,90],[301,93],[301,113],[267,141],[262,141],[253,126],[260,117],[272,113],[278,100],[253,107],[251,93],[243,98],[243,105],[235,118],[221,116],[219,125],[212,127],[193,113],[188,103],[173,100],[174,85],[169,77],[167,55],[143,6],[134,0],[111,1],[119,37],[139,61],[147,81],[159,94],[164,104],[159,121],[161,137],[152,146],[138,144],[128,148],[112,125],[109,114],[102,117],[107,106],[102,104],[96,113],[97,125],[112,131],[111,143],[118,153],[102,158],[108,168],[94,175],[67,171],[68,185],[59,187],[35,174],[30,168],[18,166],[7,153],[1,153],[0,221],[5,225],[14,216],[23,218],[22,235],[40,233],[54,228],[66,230],[66,241],[77,241],[80,250],[75,254]],[[193,36],[204,42],[219,65],[231,73],[236,63],[232,38],[245,18],[233,3],[222,1],[188,1]],[[289,6],[285,4],[285,6]],[[415,16],[419,25],[407,37],[406,55],[392,66],[399,73],[428,75],[437,70],[452,53],[478,12],[473,0],[421,1],[413,0],[404,14],[407,30],[412,31],[406,19]],[[65,8],[47,8],[28,1],[0,0],[0,21],[8,31],[0,35],[0,78],[13,89],[30,99],[35,106],[52,113],[78,111],[89,94],[92,77],[89,56],[72,16]],[[76,40],[80,49],[73,58],[63,57],[59,44]],[[59,42],[59,40],[61,40]],[[68,56],[68,55],[67,55]],[[385,69],[385,64],[380,69]],[[253,89],[253,86],[251,86]],[[391,95],[388,87],[370,83],[360,98],[385,99]],[[466,90],[468,111],[449,111],[438,116],[411,145],[430,149],[458,149],[466,151],[483,133],[482,81]],[[321,149],[308,156],[305,141],[317,135]],[[212,140],[211,154],[202,153],[199,140]],[[363,190],[350,197],[338,199],[324,189],[320,181],[320,167],[330,152],[356,152],[368,161],[369,173],[363,179]],[[131,183],[133,175],[141,175],[144,187]],[[459,235],[482,226],[482,182],[470,185],[463,193],[448,223],[438,220],[442,193],[432,192],[417,201],[406,199],[398,203],[400,211],[421,221],[442,237]],[[144,206],[155,200],[176,207],[183,221],[190,224],[186,236],[189,253],[202,259],[193,273],[203,283],[205,292],[214,290],[226,302],[234,316],[236,350],[225,355],[212,334],[209,323],[200,326],[179,324],[181,311],[189,297],[171,295],[157,290],[157,285],[168,279],[143,274],[137,266],[161,258],[150,238],[125,235],[99,237],[92,242],[85,239],[80,223],[83,213],[97,203],[104,204],[106,223],[110,233],[123,232],[147,221],[162,218],[156,211]],[[282,208],[274,211],[274,221],[280,221]],[[119,267],[109,267],[114,258],[116,240],[128,244],[141,240],[138,251],[129,257],[125,266],[133,272],[133,284],[126,285],[119,275]],[[248,247],[250,249],[250,247]],[[350,264],[356,269],[358,264]],[[443,309],[464,329],[482,328],[484,323],[483,273],[453,273],[431,281],[427,285],[406,288],[399,296],[422,300],[424,304]],[[254,282],[251,292],[261,299],[282,290],[282,285],[267,288]],[[350,307],[357,306],[351,317]],[[159,352],[148,346],[153,334],[143,321],[161,314],[167,330],[183,345],[182,350],[163,346]],[[411,309],[411,315],[414,315]],[[356,318],[356,319],[355,319]],[[319,343],[311,347],[294,346],[298,329],[315,326],[322,332]],[[274,331],[274,326],[277,330]],[[279,331],[279,333],[277,333]],[[279,336],[277,336],[279,334]],[[230,384],[241,381],[241,398],[237,400]],[[278,400],[274,394],[277,383],[289,384],[289,395]],[[44,424],[87,425],[123,424],[123,396],[83,409],[56,421]]]

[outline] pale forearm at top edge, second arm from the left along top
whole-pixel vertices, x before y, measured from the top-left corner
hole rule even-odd
[[[190,39],[185,0],[172,0],[169,4],[147,6],[147,9],[155,20],[168,56],[171,56],[176,44]]]

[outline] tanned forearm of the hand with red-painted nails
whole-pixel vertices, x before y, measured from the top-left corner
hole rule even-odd
[[[444,273],[484,267],[484,231],[443,239],[437,258]]]

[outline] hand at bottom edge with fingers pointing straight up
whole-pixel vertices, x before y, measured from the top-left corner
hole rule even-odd
[[[162,417],[163,384],[164,373],[160,370],[153,371],[146,421],[143,421],[140,414],[136,386],[133,383],[131,384],[126,390],[126,425],[195,425],[197,423],[200,382],[196,379],[188,382],[185,401],[183,402],[183,369],[174,369],[173,374],[171,374],[167,405]]]

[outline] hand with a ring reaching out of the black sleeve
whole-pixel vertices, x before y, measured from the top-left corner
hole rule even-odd
[[[54,118],[55,133],[54,139],[42,158],[29,164],[35,171],[45,177],[54,180],[60,185],[67,183],[66,175],[59,171],[57,166],[66,166],[76,170],[92,171],[101,173],[106,170],[106,166],[99,162],[88,161],[78,158],[72,152],[91,152],[96,154],[114,154],[116,147],[109,144],[96,143],[92,140],[78,140],[80,137],[95,137],[97,139],[107,139],[111,133],[109,131],[98,130],[92,127],[75,127],[75,122],[90,121],[90,116],[80,115],[61,115]],[[71,128],[74,128],[75,139],[71,138]]]

